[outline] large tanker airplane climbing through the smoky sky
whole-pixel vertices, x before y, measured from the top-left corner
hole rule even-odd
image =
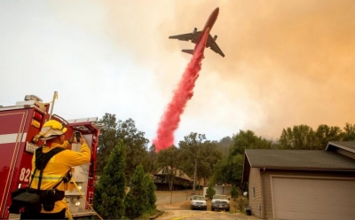
[[[203,29],[201,31],[197,31],[197,28],[194,27],[193,28],[193,33],[189,33],[189,34],[185,34],[185,35],[171,35],[169,37],[169,39],[177,39],[179,41],[189,41],[189,40],[191,40],[192,43],[196,44],[194,49],[193,50],[182,50],[182,51],[190,53],[190,54],[193,54],[193,52],[195,51],[197,45],[201,41],[201,36],[207,31],[208,28],[210,30],[213,27],[213,25],[215,24],[215,22],[217,20],[218,12],[219,12],[219,8],[216,8],[209,15],[209,20],[207,20],[205,27],[203,27]],[[206,47],[207,48],[209,47],[212,51],[215,51],[218,54],[220,54],[222,57],[225,57],[225,54],[221,51],[221,49],[219,49],[219,47],[218,47],[218,45],[216,43],[216,40],[217,40],[217,35],[215,35],[214,37],[209,35],[209,38],[207,39]]]

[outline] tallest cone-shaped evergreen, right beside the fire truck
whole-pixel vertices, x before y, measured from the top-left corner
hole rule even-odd
[[[119,219],[124,214],[126,189],[126,147],[118,143],[110,154],[106,167],[95,186],[94,208],[105,219]]]

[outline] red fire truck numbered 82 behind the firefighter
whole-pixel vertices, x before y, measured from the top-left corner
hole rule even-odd
[[[54,101],[54,99],[53,99]],[[42,129],[43,123],[49,119],[62,122],[67,127],[66,138],[73,132],[80,131],[91,147],[91,161],[77,166],[73,177],[77,187],[65,192],[69,211],[73,217],[94,216],[95,211],[88,205],[93,202],[94,180],[99,141],[98,118],[64,120],[59,115],[51,115],[52,104],[43,103],[34,95],[25,96],[15,106],[0,106],[0,218],[19,218],[10,214],[12,191],[29,185],[31,176],[31,160],[34,151],[43,142],[34,143],[33,138]],[[72,144],[73,151],[80,151],[79,143]],[[70,184],[75,185],[73,182]],[[86,201],[85,201],[86,200]]]

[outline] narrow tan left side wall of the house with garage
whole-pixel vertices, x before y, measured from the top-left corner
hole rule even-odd
[[[260,177],[260,169],[250,169],[249,182],[248,182],[248,199],[249,207],[251,208],[251,215],[264,217],[263,213],[263,191],[262,182]]]

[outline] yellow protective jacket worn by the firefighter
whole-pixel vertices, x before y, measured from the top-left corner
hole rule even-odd
[[[63,145],[59,145],[57,143],[52,143],[51,147],[44,146],[43,153],[47,153],[51,151],[54,147],[66,147],[68,143]],[[32,174],[35,171],[35,161],[36,161],[36,153],[32,158]],[[47,166],[43,169],[43,176],[41,181],[41,190],[50,190],[53,188],[54,185],[58,184],[62,177],[67,174],[67,171],[71,169],[71,167],[79,166],[85,163],[88,163],[91,159],[91,150],[89,146],[84,143],[82,145],[82,149],[80,152],[75,152],[72,150],[65,150],[59,152],[51,157],[51,160],[48,161]],[[39,179],[40,171],[36,170],[36,174],[34,180],[31,184],[31,188],[37,189],[38,187],[38,179]],[[31,176],[32,177],[32,176]],[[67,184],[63,182],[57,187],[57,189],[61,191],[65,191],[67,189]],[[57,213],[63,210],[63,208],[67,207],[66,199],[56,201],[54,204],[54,209],[52,211],[45,211],[42,209],[41,213]]]

